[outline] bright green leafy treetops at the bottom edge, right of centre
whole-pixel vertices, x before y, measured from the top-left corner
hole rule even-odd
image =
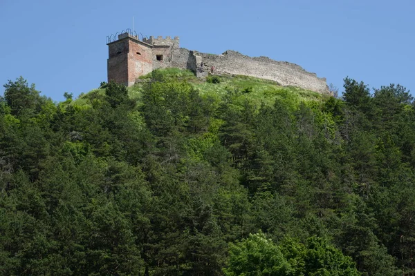
[[[311,237],[306,246],[287,238],[277,246],[262,233],[230,245],[225,275],[344,275],[359,276],[351,257]]]

